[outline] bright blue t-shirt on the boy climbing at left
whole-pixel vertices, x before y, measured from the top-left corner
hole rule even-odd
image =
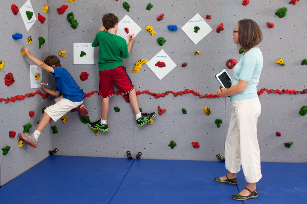
[[[53,67],[54,73],[50,73],[56,81],[56,91],[63,94],[63,97],[73,102],[84,100],[83,89],[77,85],[72,75],[63,67]]]

